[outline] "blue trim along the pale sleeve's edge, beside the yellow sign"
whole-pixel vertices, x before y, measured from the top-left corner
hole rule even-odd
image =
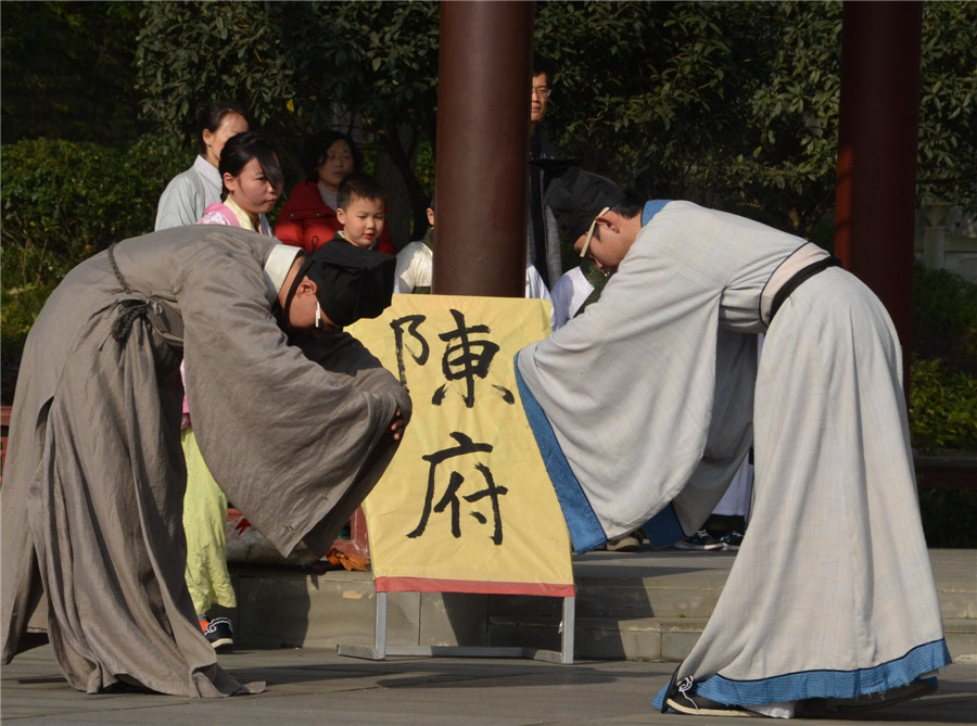
[[[546,466],[546,473],[549,474],[549,481],[553,483],[553,488],[556,489],[560,509],[563,510],[563,519],[567,520],[570,539],[573,542],[573,551],[581,553],[600,547],[607,542],[607,534],[597,520],[597,514],[594,513],[573,470],[570,469],[570,463],[563,456],[563,450],[557,442],[549,419],[546,418],[540,403],[522,379],[522,373],[519,372],[518,353],[515,368],[516,384],[519,387],[519,395],[522,397],[522,408],[525,410],[525,418],[536,438],[536,446],[540,448],[543,463]]]

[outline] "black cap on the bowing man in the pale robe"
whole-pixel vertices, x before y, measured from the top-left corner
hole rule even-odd
[[[543,173],[546,203],[571,242],[586,233],[605,207],[624,200],[624,190],[613,181],[579,166],[554,164]]]

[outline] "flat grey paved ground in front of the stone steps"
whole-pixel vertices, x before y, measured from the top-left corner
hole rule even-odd
[[[635,661],[557,665],[524,660],[391,659],[361,661],[316,649],[221,654],[242,682],[265,692],[220,700],[143,693],[87,696],[69,688],[49,648],[2,670],[0,719],[23,724],[379,724],[399,726],[529,724],[728,724],[728,718],[662,715],[651,698],[672,664]],[[932,696],[833,724],[977,723],[977,660],[946,668]]]

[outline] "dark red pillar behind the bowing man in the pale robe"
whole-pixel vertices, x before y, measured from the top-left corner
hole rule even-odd
[[[888,309],[906,373],[922,28],[922,2],[845,2],[835,251]]]

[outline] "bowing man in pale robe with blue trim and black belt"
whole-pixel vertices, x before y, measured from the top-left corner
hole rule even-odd
[[[878,298],[743,217],[644,203],[579,169],[547,196],[576,250],[616,270],[516,361],[574,549],[646,522],[658,545],[696,532],[753,441],[750,531],[656,705],[841,714],[931,690],[919,677],[950,657]]]

